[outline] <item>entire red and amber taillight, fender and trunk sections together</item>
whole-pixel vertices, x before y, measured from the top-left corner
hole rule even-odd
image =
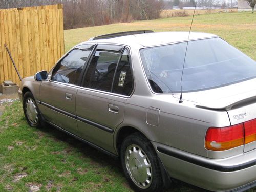
[[[210,127],[206,132],[207,150],[222,151],[256,141],[256,119],[227,127]]]

